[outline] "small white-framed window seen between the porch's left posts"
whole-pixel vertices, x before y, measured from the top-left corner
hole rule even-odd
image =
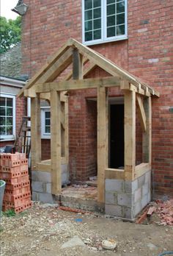
[[[41,107],[41,135],[42,135],[42,138],[51,138],[50,107]]]

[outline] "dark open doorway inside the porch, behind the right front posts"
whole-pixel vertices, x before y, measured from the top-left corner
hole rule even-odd
[[[109,166],[124,166],[124,104],[110,105]]]

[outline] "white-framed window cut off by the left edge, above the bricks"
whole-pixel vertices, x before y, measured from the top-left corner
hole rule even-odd
[[[15,139],[15,96],[0,93],[0,140]]]

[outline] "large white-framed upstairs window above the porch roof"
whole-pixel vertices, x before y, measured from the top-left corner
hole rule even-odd
[[[128,37],[127,0],[82,0],[82,40],[92,45]]]

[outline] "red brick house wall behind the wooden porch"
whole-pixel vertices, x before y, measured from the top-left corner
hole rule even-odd
[[[25,2],[29,4],[29,10],[23,16],[23,72],[33,75],[68,38],[81,41],[81,0],[76,0],[76,4],[70,0]],[[169,107],[173,105],[172,8],[172,0],[129,0],[128,40],[92,46],[161,93],[159,99],[152,100],[152,182],[155,195],[173,193],[173,114],[169,113]],[[103,74],[97,68],[94,75]],[[87,114],[86,100],[82,100],[87,97],[84,93],[70,93],[70,171],[78,179],[82,179],[78,171],[87,174],[83,169],[84,164],[88,164],[87,144],[83,144],[87,140],[84,127],[87,118],[92,116],[92,113]],[[76,132],[76,138],[73,132]],[[139,132],[136,137],[140,136]],[[141,154],[138,153],[138,157],[140,159]],[[92,160],[90,163],[91,166],[94,164]]]

